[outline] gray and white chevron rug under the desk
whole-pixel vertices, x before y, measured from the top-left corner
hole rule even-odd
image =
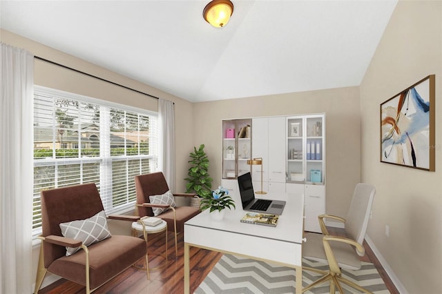
[[[325,271],[328,268],[323,263],[308,259],[302,259],[302,264]],[[224,254],[196,289],[195,294],[295,293],[295,276],[293,268]],[[359,271],[343,270],[343,276],[373,293],[390,293],[373,264],[363,262]],[[319,277],[316,273],[303,272],[302,286],[311,284]],[[355,293],[346,285],[343,285],[343,288],[345,293]],[[305,293],[329,293],[329,284],[322,284]]]

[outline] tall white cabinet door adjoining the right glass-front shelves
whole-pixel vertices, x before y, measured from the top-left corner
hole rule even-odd
[[[269,182],[285,183],[285,117],[269,117]]]

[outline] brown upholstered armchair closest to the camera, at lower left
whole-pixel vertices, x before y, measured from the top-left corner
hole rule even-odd
[[[38,293],[47,272],[84,285],[86,293],[90,293],[146,257],[143,239],[108,233],[103,210],[95,184],[41,191],[43,233],[40,236],[42,241],[35,293]],[[139,218],[126,215],[115,217],[131,222]],[[75,239],[69,237],[72,232],[76,232]],[[104,239],[96,242],[97,235]],[[86,246],[90,238],[95,238],[96,243]],[[81,249],[67,256],[66,247],[70,251],[76,247]]]

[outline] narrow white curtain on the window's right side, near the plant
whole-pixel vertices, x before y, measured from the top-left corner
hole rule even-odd
[[[175,192],[175,114],[172,101],[159,99],[158,117],[160,121],[158,169],[164,173],[173,193]]]

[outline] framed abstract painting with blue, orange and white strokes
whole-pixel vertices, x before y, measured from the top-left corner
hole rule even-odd
[[[381,104],[381,162],[434,171],[435,76]]]

